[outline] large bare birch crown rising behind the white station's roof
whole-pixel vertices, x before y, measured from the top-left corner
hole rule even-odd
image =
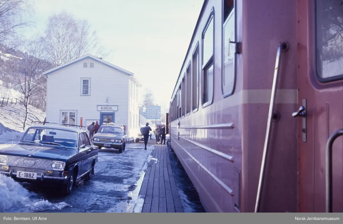
[[[47,60],[55,66],[87,53],[102,58],[109,54],[103,52],[96,32],[87,21],[76,20],[66,12],[49,17],[45,41]]]

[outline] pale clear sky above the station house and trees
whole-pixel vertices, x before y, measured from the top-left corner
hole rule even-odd
[[[169,105],[203,0],[34,1],[38,32],[61,10],[86,19],[112,51],[105,60],[133,72],[155,103]]]

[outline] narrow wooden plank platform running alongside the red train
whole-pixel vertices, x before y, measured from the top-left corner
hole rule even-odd
[[[166,145],[155,145],[139,195],[144,197],[142,212],[184,212],[171,171]]]

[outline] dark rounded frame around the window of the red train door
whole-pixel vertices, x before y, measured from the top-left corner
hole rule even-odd
[[[317,38],[317,19],[318,19],[318,16],[317,16],[317,3],[319,1],[322,1],[322,0],[314,0],[314,4],[313,4],[313,9],[314,9],[314,13],[313,13],[313,22],[314,22],[314,46],[312,46],[314,48],[314,71],[315,71],[315,76],[318,80],[318,82],[320,82],[321,84],[325,84],[325,83],[332,83],[332,82],[335,82],[335,81],[340,81],[343,79],[343,74],[341,75],[336,75],[336,76],[331,76],[331,77],[328,77],[328,78],[321,78],[319,76],[319,73],[318,73],[318,65],[317,65],[317,58],[319,57],[319,54],[317,53],[317,43],[318,43],[318,38]],[[321,44],[322,45],[322,44]],[[322,62],[323,63],[323,62]]]

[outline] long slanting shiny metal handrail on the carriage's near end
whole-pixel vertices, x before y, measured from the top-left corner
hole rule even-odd
[[[281,53],[282,51],[287,51],[288,48],[289,48],[289,43],[287,41],[281,41],[276,51],[274,79],[273,79],[272,94],[271,94],[270,104],[269,104],[267,132],[265,134],[265,140],[264,140],[262,164],[261,164],[261,172],[260,172],[259,184],[258,184],[258,189],[257,189],[255,212],[259,212],[260,207],[261,207],[263,180],[264,180],[264,174],[265,174],[265,165],[267,162],[267,152],[268,152],[268,147],[269,147],[269,139],[270,139],[272,119],[273,119],[274,101],[275,101],[275,96],[276,96],[276,84],[277,84],[277,78],[279,76],[279,70],[280,70]]]

